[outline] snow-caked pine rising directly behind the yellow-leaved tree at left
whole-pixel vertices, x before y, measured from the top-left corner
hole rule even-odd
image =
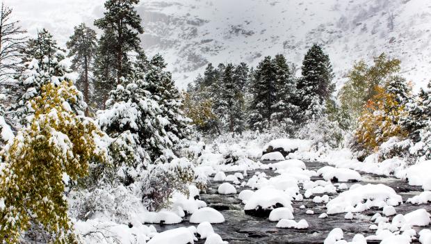
[[[22,127],[28,124],[33,117],[33,108],[29,101],[40,95],[40,88],[47,83],[60,85],[61,81],[71,79],[70,68],[65,62],[65,51],[58,47],[56,40],[46,30],[38,33],[38,37],[30,39],[24,50],[23,63],[19,65],[19,76],[17,81],[17,102],[12,109],[13,121],[16,126]],[[79,93],[79,96],[82,96]],[[86,104],[81,102],[72,103],[75,113],[83,114]]]

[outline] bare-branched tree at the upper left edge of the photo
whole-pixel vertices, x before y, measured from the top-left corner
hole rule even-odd
[[[10,79],[22,58],[26,31],[13,21],[12,9],[1,2],[0,9],[0,81]]]

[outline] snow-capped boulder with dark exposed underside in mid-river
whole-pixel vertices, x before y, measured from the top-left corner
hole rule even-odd
[[[287,207],[293,211],[291,197],[283,190],[261,188],[256,190],[244,206],[245,214],[268,217],[273,209]]]

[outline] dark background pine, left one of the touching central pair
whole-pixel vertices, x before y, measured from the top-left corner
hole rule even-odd
[[[275,88],[275,65],[270,56],[263,58],[256,70],[251,84],[252,101],[248,123],[251,129],[266,129],[271,125],[274,104],[277,102]]]

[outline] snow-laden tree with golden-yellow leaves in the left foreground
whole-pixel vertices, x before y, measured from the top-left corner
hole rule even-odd
[[[77,243],[67,216],[63,175],[75,181],[88,173],[96,153],[95,124],[76,116],[68,101],[79,103],[71,82],[47,83],[31,100],[34,120],[19,131],[1,155],[0,238],[18,243],[31,225],[47,232],[47,243]],[[81,101],[82,102],[82,101]]]

